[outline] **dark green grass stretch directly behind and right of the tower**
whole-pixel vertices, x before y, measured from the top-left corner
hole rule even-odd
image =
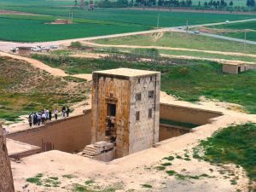
[[[210,61],[188,61],[170,59],[168,61],[120,61],[112,59],[84,59],[68,57],[65,64],[58,57],[33,55],[52,67],[67,73],[91,73],[116,67],[130,67],[160,71],[161,90],[180,99],[196,102],[200,96],[223,102],[241,104],[248,112],[256,113],[256,71],[238,75],[222,73],[222,66]]]

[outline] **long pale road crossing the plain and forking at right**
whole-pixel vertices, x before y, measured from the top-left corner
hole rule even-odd
[[[230,23],[247,22],[247,21],[253,21],[253,20],[256,20],[256,19],[235,20],[235,21],[230,21]],[[225,22],[201,24],[201,25],[194,25],[194,26],[189,26],[189,27],[193,28],[193,27],[200,27],[200,26],[216,26],[216,25],[222,25],[222,24],[225,24]],[[16,43],[16,42],[0,41],[0,51],[9,52],[9,49],[12,49],[14,47],[19,47],[19,46],[37,46],[37,45],[42,45],[42,46],[57,45],[58,46],[60,44],[70,44],[71,42],[74,42],[74,41],[90,41],[90,40],[96,40],[96,39],[101,39],[101,38],[119,38],[119,37],[131,36],[131,35],[148,34],[148,33],[153,33],[153,32],[170,32],[170,31],[184,32],[183,29],[185,27],[186,26],[165,27],[165,28],[148,30],[148,31],[143,31],[143,32],[126,32],[126,33],[121,33],[121,34],[104,35],[104,36],[97,36],[97,37],[91,37],[91,38],[73,38],[73,39],[65,39],[65,40],[43,42],[43,43]],[[178,28],[182,28],[182,29],[180,30]],[[191,32],[191,33],[193,33],[193,32]],[[207,34],[207,33],[201,33],[201,35],[206,35],[206,36],[209,36],[212,38],[223,38],[226,40],[244,43],[244,40],[241,40],[239,38],[227,38],[227,37],[212,35],[212,34]],[[255,44],[252,41],[247,41],[246,43],[247,44]]]

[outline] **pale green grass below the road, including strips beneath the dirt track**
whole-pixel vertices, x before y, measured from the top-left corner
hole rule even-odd
[[[127,44],[127,45],[141,45],[141,46],[160,46],[160,47],[172,47],[172,48],[184,48],[184,49],[198,49],[198,50],[213,50],[224,52],[237,52],[246,54],[256,54],[256,45],[244,44],[238,42],[232,42],[223,39],[209,38],[204,36],[198,36],[194,34],[184,34],[180,32],[166,32],[163,37],[155,38],[156,34],[150,35],[137,35],[127,36],[122,38],[105,38],[98,39],[94,42],[97,44]],[[182,41],[180,39],[183,39]],[[102,48],[108,51],[108,48]],[[111,48],[109,48],[111,50]],[[112,48],[115,49],[115,48]],[[118,49],[118,48],[116,48]],[[127,49],[132,53],[139,53],[139,50]],[[159,49],[160,54],[165,55],[187,55],[195,57],[204,57],[212,59],[225,59],[225,60],[237,60],[237,61],[249,61],[256,62],[255,57],[246,55],[223,55],[196,52],[189,50],[166,50]]]

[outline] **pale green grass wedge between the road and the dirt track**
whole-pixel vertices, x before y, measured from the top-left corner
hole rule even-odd
[[[159,39],[155,39],[155,36],[156,34],[127,36],[121,38],[105,38],[95,40],[95,42],[97,44],[128,44],[142,46],[151,45],[186,49],[215,50],[226,52],[230,51],[239,53],[244,52],[244,44],[218,38],[209,38],[182,32],[166,32],[164,36]],[[247,44],[245,50],[246,53],[256,54],[256,45]]]

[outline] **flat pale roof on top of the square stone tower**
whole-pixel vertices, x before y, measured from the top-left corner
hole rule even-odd
[[[108,74],[108,75],[117,75],[117,76],[125,76],[125,77],[137,77],[137,76],[144,76],[144,75],[152,75],[159,72],[148,71],[148,70],[138,70],[132,68],[115,68],[103,71],[96,71],[93,73],[99,74]]]

